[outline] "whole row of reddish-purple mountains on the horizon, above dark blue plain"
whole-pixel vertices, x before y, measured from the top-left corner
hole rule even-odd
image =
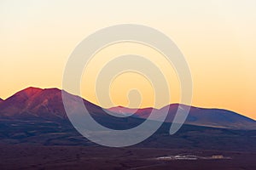
[[[70,105],[76,107],[79,96],[72,96],[73,100]],[[157,111],[158,115],[163,113],[166,107],[169,109],[168,116],[165,122],[172,122],[176,114],[177,108],[183,110],[187,105],[167,105],[166,107],[156,110],[154,108],[145,109],[129,109],[125,107],[114,107],[108,109],[116,114],[134,113],[128,118],[119,118],[108,116],[102,108],[84,100],[84,105],[91,115],[97,121],[105,122],[106,126],[110,126],[110,122],[123,123],[127,119],[131,120],[131,124],[137,125],[142,120],[137,121],[137,118],[145,119],[149,116],[151,111]],[[61,98],[61,90],[58,88],[26,88],[14,94],[8,99],[0,103],[0,117],[9,119],[48,119],[48,120],[67,120],[67,115],[64,110]],[[154,121],[158,117],[154,117]],[[220,109],[202,109],[191,107],[189,116],[185,122],[186,124],[204,126],[204,127],[225,127],[234,129],[256,129],[256,122],[246,116],[241,116],[232,111]]]

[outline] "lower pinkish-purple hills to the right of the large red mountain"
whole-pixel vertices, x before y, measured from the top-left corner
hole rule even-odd
[[[224,127],[224,128],[233,128],[233,129],[256,129],[256,121],[250,119],[246,116],[242,116],[233,111],[227,111],[223,109],[204,109],[188,105],[166,105],[160,110],[154,109],[158,112],[158,115],[163,114],[163,111],[169,109],[168,116],[166,117],[165,122],[172,122],[173,118],[177,112],[177,108],[181,110],[190,109],[189,116],[186,119],[185,124],[204,126],[204,127]],[[153,108],[145,109],[129,109],[125,107],[113,107],[108,109],[119,114],[128,114],[134,113],[133,116],[140,118],[147,118]],[[158,116],[154,117],[153,120],[158,120]]]

